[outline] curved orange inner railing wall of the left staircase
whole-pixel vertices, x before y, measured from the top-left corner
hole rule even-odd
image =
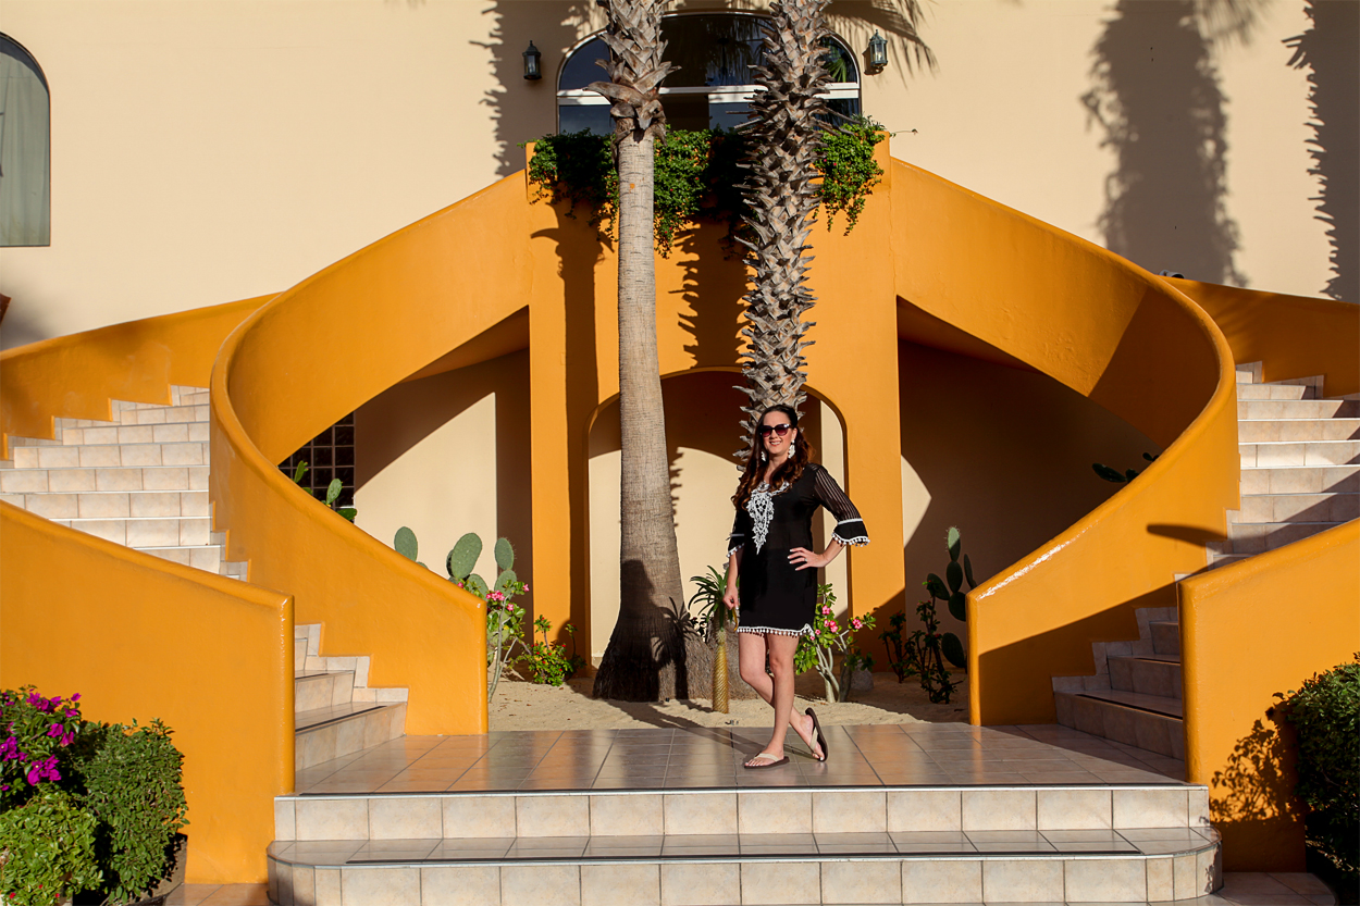
[[[370,686],[408,687],[409,733],[487,731],[484,605],[275,464],[524,306],[526,209],[517,174],[367,246],[256,312],[212,373],[209,491],[228,558],[288,589],[325,654],[370,654]]]

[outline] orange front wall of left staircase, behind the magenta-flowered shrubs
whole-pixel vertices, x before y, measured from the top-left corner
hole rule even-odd
[[[292,790],[292,600],[0,503],[0,686],[159,717],[185,755],[190,883],[264,882]]]

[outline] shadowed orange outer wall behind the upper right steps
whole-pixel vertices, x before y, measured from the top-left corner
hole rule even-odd
[[[1322,374],[1326,396],[1360,393],[1360,305],[1235,286],[1168,280],[1213,318],[1238,362],[1262,381]]]

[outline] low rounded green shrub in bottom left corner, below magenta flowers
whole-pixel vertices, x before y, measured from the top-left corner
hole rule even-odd
[[[52,906],[75,891],[98,887],[94,828],[94,815],[52,785],[0,812],[0,901]]]

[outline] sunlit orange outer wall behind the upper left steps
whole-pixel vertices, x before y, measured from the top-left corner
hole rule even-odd
[[[58,336],[0,352],[0,460],[8,438],[53,437],[54,418],[105,419],[109,400],[170,403],[208,386],[222,340],[271,297]]]

